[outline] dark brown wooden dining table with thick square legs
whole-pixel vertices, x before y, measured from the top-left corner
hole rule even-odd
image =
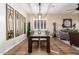
[[[33,43],[34,38],[37,38],[38,42],[42,42],[43,40],[41,40],[41,38],[45,38],[46,51],[47,53],[50,53],[50,36],[49,35],[33,35],[33,34],[28,37],[28,53],[32,53],[32,43]]]

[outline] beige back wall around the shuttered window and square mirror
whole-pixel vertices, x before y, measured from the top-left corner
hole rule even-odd
[[[35,15],[30,15],[31,29],[33,29],[33,19]],[[72,19],[72,24],[76,23],[76,29],[79,30],[79,14],[48,14],[47,15],[47,29],[53,33],[53,22],[56,22],[57,30],[61,30],[63,19]]]

